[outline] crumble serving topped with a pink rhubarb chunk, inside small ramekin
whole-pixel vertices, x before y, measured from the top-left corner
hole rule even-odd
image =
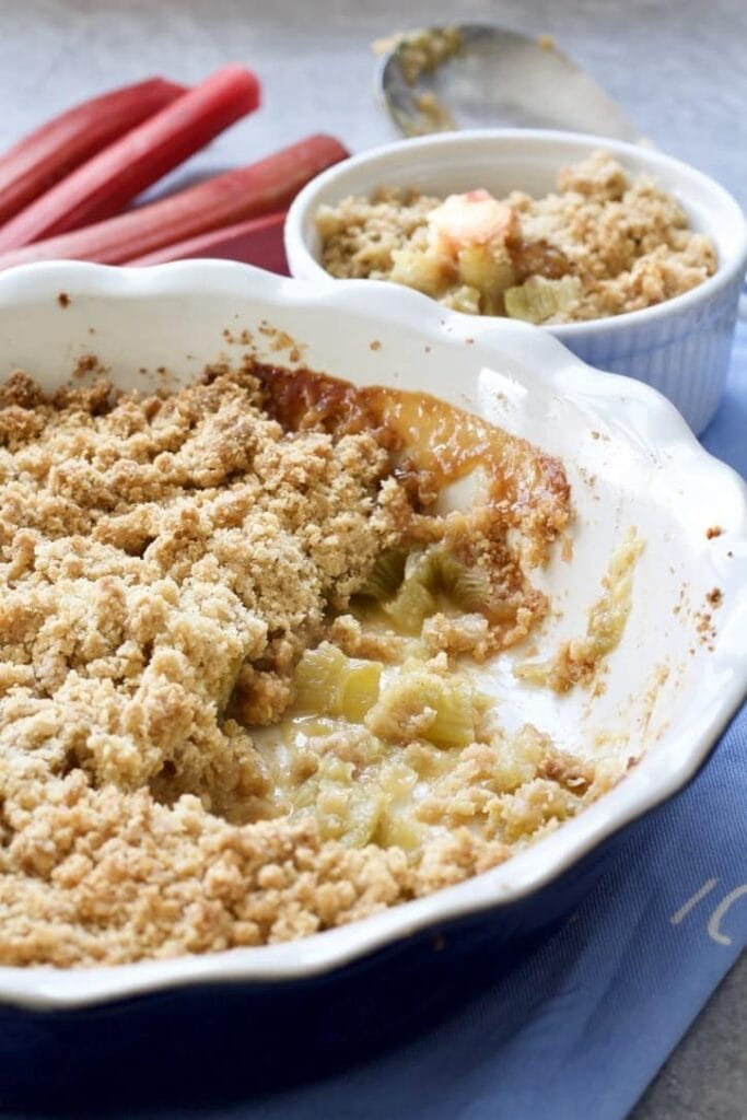
[[[652,307],[716,271],[712,242],[646,175],[608,152],[563,168],[557,190],[446,199],[382,186],[321,206],[321,263],[338,278],[392,280],[473,315],[575,323]]]

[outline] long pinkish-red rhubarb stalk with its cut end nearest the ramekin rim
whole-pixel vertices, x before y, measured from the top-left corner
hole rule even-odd
[[[28,261],[122,264],[137,260],[208,230],[284,209],[309,179],[346,156],[345,148],[332,137],[307,137],[256,164],[226,171],[148,206],[3,253],[0,268]]]

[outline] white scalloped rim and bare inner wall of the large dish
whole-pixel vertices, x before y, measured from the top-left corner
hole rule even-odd
[[[65,308],[57,300],[63,291],[69,296]],[[152,270],[31,265],[0,277],[0,376],[22,367],[54,389],[82,355],[95,354],[123,388],[148,388],[160,380],[159,367],[178,384],[221,354],[239,358],[246,347],[226,343],[224,330],[236,336],[244,329],[263,347],[260,356],[287,364],[273,337],[258,330],[263,321],[302,343],[311,368],[356,383],[428,390],[563,460],[577,514],[573,558],[564,562],[555,549],[538,576],[561,612],[542,631],[541,654],[583,633],[610,553],[635,526],[645,550],[604,693],[592,698],[576,689],[558,697],[517,684],[512,668],[521,650],[501,655],[482,687],[495,694],[504,724],[530,720],[586,755],[617,749],[626,756],[645,750],[645,757],[578,819],[458,887],[290,944],[108,970],[0,969],[0,998],[59,1006],[190,979],[298,977],[448,916],[510,902],[678,788],[744,692],[744,484],[706,455],[653,390],[589,370],[534,328],[447,314],[387,284],[336,283],[319,291],[226,262]],[[372,349],[372,342],[381,345]],[[721,534],[708,539],[716,525]],[[713,588],[722,592],[715,610],[706,599]],[[712,615],[713,641],[697,633],[697,612]]]

